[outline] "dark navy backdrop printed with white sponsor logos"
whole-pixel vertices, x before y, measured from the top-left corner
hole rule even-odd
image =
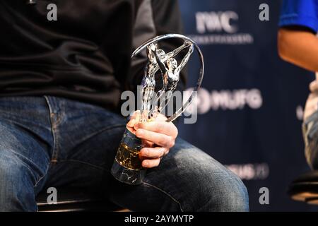
[[[264,3],[269,21],[259,20]],[[291,180],[309,170],[301,119],[314,75],[278,57],[281,1],[179,4],[184,32],[199,43],[206,64],[198,121],[179,123],[180,136],[243,179],[251,210],[314,210],[286,194]],[[189,64],[189,86],[198,70]],[[269,189],[269,205],[259,203],[261,187]]]

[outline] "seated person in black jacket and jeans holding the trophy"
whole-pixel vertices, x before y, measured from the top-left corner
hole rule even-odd
[[[47,1],[0,1],[0,211],[36,211],[37,194],[61,186],[134,211],[249,210],[242,181],[171,122],[134,124],[156,144],[141,150],[142,184],[110,174],[127,123],[120,94],[141,83],[145,65],[131,66],[131,50],[181,32],[177,0],[54,3],[49,21]]]

